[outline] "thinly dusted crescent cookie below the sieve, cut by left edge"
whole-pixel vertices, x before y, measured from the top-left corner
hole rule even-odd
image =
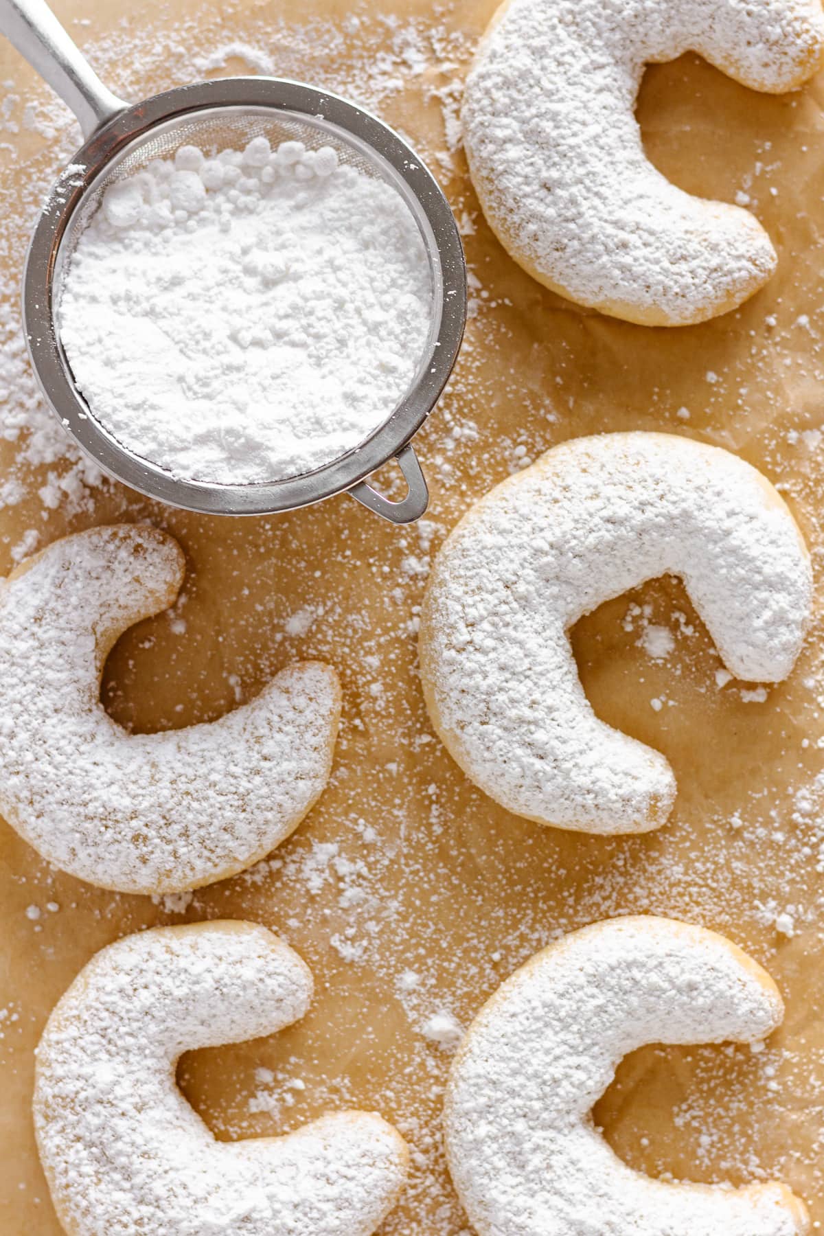
[[[179,892],[263,858],[326,785],[337,735],[337,676],[311,661],[209,724],[115,724],[106,656],[183,575],[177,541],[124,524],[67,536],[0,581],[0,813],[56,866],[122,892]]]

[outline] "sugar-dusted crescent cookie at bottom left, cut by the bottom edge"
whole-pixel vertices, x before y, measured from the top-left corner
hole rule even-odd
[[[37,1145],[69,1236],[373,1232],[408,1162],[380,1116],[217,1142],[175,1085],[184,1051],[283,1030],[311,994],[298,954],[252,923],[158,927],[98,953],[37,1048]]]

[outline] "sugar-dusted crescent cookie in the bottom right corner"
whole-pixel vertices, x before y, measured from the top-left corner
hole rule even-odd
[[[591,1115],[644,1043],[756,1042],[782,1017],[770,975],[700,927],[616,918],[536,953],[471,1025],[446,1090],[450,1170],[478,1236],[802,1236],[784,1185],[650,1179]]]

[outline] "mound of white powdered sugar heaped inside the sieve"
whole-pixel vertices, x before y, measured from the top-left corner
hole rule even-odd
[[[110,187],[65,273],[59,331],[95,418],[177,477],[273,481],[380,425],[431,321],[400,194],[264,137],[182,147]]]

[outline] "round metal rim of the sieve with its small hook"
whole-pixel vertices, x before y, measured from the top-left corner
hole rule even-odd
[[[124,447],[93,417],[74,384],[54,329],[52,293],[61,245],[104,169],[146,141],[152,130],[159,131],[187,115],[224,108],[292,112],[309,122],[314,117],[364,146],[369,156],[377,154],[394,173],[395,185],[415,218],[414,203],[423,211],[430,234],[420,230],[432,271],[436,308],[440,293],[440,323],[429,352],[416,381],[388,419],[357,447],[313,472],[254,485],[179,480]],[[262,515],[350,492],[395,523],[415,519],[426,508],[426,482],[409,444],[437,403],[463,337],[467,311],[463,247],[448,201],[415,151],[372,112],[340,95],[287,78],[219,78],[175,87],[119,111],[85,142],[58,178],[28,246],[22,299],[28,355],[47,403],[104,472],[146,497],[204,514]],[[393,457],[399,459],[409,485],[408,497],[399,503],[389,502],[366,485],[366,478]]]

